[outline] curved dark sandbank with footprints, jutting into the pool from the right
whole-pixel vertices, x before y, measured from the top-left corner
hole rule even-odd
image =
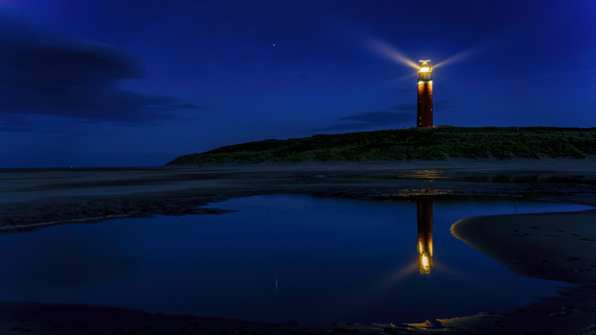
[[[547,198],[596,207],[596,195]],[[517,275],[572,283],[560,296],[443,325],[483,334],[596,334],[596,209],[475,216],[452,234]]]

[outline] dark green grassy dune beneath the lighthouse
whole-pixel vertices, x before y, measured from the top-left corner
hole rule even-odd
[[[446,127],[390,129],[305,138],[265,139],[180,156],[167,163],[261,163],[337,160],[444,160],[517,157],[585,158],[596,154],[596,128]]]

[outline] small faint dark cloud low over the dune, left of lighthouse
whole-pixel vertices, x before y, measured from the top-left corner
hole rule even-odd
[[[315,130],[331,131],[391,126],[406,122],[412,123],[412,120],[414,119],[415,114],[411,112],[367,111],[353,116],[340,117],[340,119],[337,120],[337,123]]]

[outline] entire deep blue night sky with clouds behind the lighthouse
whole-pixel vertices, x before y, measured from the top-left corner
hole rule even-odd
[[[0,0],[0,168],[415,123],[596,126],[593,1]],[[454,57],[455,56],[455,57]]]

